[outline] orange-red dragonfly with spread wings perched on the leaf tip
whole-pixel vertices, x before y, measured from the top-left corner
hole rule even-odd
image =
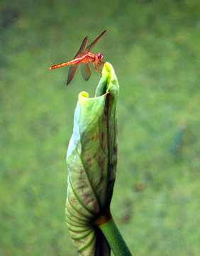
[[[102,36],[104,36],[104,33],[106,33],[106,30],[103,33],[101,33],[101,35],[98,36],[98,38],[96,38],[94,42],[92,42],[89,46],[87,46],[87,48],[86,48],[86,45],[87,45],[88,36],[84,38],[84,41],[82,42],[82,45],[79,48],[77,54],[74,56],[73,60],[69,60],[65,63],[53,65],[50,68],[50,70],[55,68],[65,67],[66,65],[71,65],[68,73],[67,85],[69,85],[69,83],[74,78],[74,75],[76,74],[77,68],[79,67],[80,63],[81,63],[82,76],[84,80],[86,81],[89,80],[91,75],[89,63],[93,63],[94,70],[96,70],[101,74],[100,68],[104,65],[104,62],[101,60],[104,58],[104,56],[101,53],[98,53],[97,55],[95,55],[94,53],[90,53],[90,50],[95,46],[95,44],[99,41],[99,39]]]

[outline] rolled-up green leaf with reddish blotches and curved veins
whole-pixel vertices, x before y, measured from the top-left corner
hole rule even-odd
[[[67,151],[67,226],[79,255],[109,256],[98,225],[111,218],[116,178],[118,80],[105,63],[96,96],[79,94],[74,130]]]

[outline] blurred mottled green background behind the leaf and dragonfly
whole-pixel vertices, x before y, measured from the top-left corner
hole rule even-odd
[[[74,108],[100,75],[51,65],[92,53],[116,71],[111,210],[133,255],[199,255],[199,6],[177,1],[0,3],[0,255],[77,255],[65,224]]]

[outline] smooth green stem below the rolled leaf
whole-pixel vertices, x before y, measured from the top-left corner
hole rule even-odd
[[[115,256],[132,256],[113,218],[99,225],[99,228],[104,233]]]

